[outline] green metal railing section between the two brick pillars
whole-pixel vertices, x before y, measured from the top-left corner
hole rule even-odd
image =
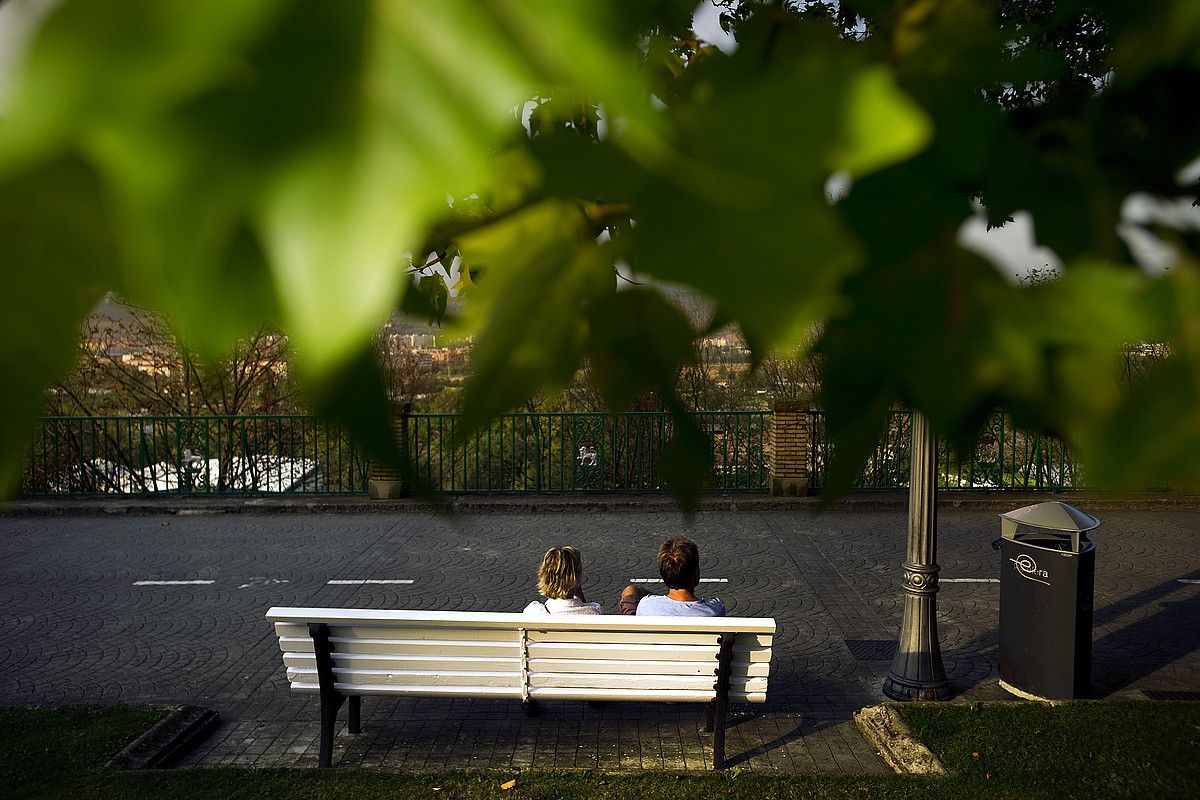
[[[768,411],[695,415],[713,443],[709,486],[766,492]],[[460,444],[456,414],[414,414],[408,452],[425,487],[450,493],[664,492],[666,413],[505,414]]]

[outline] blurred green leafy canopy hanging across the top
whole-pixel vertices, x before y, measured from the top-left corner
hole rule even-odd
[[[277,325],[312,402],[386,449],[370,337],[430,259],[472,295],[475,425],[583,359],[613,408],[674,397],[697,331],[618,291],[635,272],[709,295],[757,357],[824,320],[835,491],[898,402],[959,443],[1006,407],[1094,483],[1200,482],[1195,231],[1156,229],[1165,277],[1118,235],[1130,196],[1195,192],[1200,4],[720,5],[732,53],[695,0],[54,5],[0,120],[6,485],[106,290],[212,356]],[[1063,277],[961,247],[973,203],[1030,211]],[[1136,342],[1171,356],[1121,391]],[[668,405],[688,497],[707,446]]]

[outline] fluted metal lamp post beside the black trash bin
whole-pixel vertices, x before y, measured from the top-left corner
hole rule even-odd
[[[917,411],[912,413],[910,476],[904,620],[883,693],[896,700],[943,700],[950,686],[937,643],[937,439]]]

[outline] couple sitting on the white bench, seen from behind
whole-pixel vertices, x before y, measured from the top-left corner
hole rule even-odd
[[[725,603],[696,596],[700,549],[690,539],[668,539],[659,548],[659,575],[667,594],[654,595],[630,584],[620,593],[622,614],[637,616],[725,616]],[[533,601],[526,614],[602,614],[600,603],[583,596],[583,561],[574,547],[552,547],[538,567],[538,590],[546,602]]]

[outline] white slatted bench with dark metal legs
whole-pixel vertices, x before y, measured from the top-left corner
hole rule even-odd
[[[775,620],[486,612],[271,608],[296,692],[320,694],[320,766],[337,711],[374,696],[709,703],[713,768],[725,766],[726,706],[763,703]]]

